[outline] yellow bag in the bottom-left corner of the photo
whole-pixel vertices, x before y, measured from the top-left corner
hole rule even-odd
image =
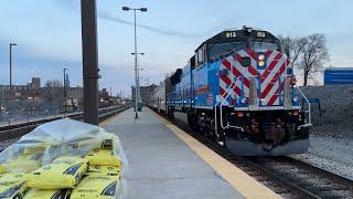
[[[3,174],[0,176],[0,198],[23,198],[26,187],[24,174]]]

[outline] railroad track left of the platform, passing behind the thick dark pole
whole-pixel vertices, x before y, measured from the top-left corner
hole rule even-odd
[[[130,108],[130,105],[127,106],[114,106],[114,107],[107,107],[107,108],[101,108],[99,109],[99,116],[98,119],[99,122],[107,119],[108,117],[116,115],[118,113],[121,113],[128,108]],[[83,112],[78,113],[72,113],[72,114],[66,114],[66,117],[76,119],[76,121],[82,121],[83,119]],[[61,119],[64,118],[63,115],[60,115],[57,117],[50,117],[45,119],[35,119],[35,121],[29,121],[24,123],[18,123],[13,125],[8,125],[8,126],[1,126],[0,127],[0,140],[9,140],[13,138],[21,137],[29,132],[33,130],[36,126],[49,123],[52,121]]]

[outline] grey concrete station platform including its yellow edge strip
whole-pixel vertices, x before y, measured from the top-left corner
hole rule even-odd
[[[101,124],[119,136],[132,198],[280,198],[196,139],[145,107]]]

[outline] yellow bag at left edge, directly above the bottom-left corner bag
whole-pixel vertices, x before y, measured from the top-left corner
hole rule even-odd
[[[0,165],[3,172],[32,172],[42,166],[43,153],[23,154]]]

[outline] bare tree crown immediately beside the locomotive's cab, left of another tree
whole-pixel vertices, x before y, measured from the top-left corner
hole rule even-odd
[[[278,39],[282,45],[284,53],[288,56],[290,63],[297,66],[297,61],[300,59],[304,46],[307,44],[306,38],[290,38],[278,35]]]

